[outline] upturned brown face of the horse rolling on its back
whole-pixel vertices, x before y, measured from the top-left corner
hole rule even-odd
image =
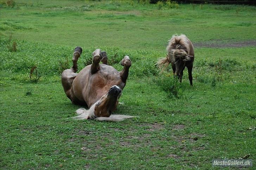
[[[118,105],[118,98],[121,96],[122,90],[118,86],[112,86],[108,93],[98,100],[94,107],[94,115],[96,117],[109,117]]]

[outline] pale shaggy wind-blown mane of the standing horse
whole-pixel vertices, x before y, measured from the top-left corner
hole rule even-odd
[[[173,35],[166,48],[168,52],[168,59],[173,63],[179,59],[188,61],[190,60],[190,57],[188,57],[189,49],[189,42],[186,35]]]

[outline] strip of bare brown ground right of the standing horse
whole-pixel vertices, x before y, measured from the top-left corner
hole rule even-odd
[[[246,40],[246,41],[230,41],[224,42],[222,40],[212,40],[207,42],[195,42],[193,46],[196,48],[230,48],[230,47],[256,47],[256,40]]]

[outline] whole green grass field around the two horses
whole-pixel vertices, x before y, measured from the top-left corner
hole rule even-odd
[[[0,0],[0,169],[216,169],[212,159],[247,155],[255,169],[255,6],[8,2]],[[161,75],[154,66],[181,33],[195,46],[193,87],[187,69],[180,84],[171,66]],[[76,46],[79,70],[96,48],[118,70],[130,56],[114,113],[136,118],[71,119],[81,106],[60,74]]]

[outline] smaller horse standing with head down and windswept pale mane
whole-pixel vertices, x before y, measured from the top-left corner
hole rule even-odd
[[[194,62],[194,47],[191,41],[186,37],[186,35],[173,35],[172,38],[169,40],[169,44],[166,50],[166,58],[161,58],[156,63],[159,68],[162,68],[164,66],[161,72],[169,65],[169,63],[171,63],[173,74],[177,75],[178,79],[181,82],[183,70],[185,69],[185,67],[187,67],[188,79],[190,81],[190,85],[193,86],[192,68]]]

